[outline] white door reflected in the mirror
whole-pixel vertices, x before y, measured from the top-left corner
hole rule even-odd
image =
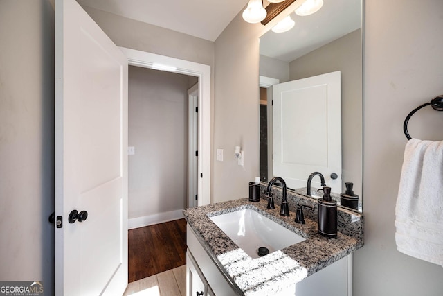
[[[340,71],[273,85],[273,141],[273,175],[287,186],[306,187],[318,171],[341,192]],[[320,178],[311,186],[321,188]]]

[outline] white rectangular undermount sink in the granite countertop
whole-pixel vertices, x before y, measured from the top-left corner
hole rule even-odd
[[[241,209],[210,217],[248,256],[258,258],[258,248],[272,252],[305,241],[305,238],[275,223],[253,209]]]

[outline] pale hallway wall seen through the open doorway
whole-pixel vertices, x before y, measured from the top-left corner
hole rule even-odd
[[[186,207],[189,80],[129,66],[129,219]]]

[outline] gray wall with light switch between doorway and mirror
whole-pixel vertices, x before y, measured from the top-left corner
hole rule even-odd
[[[259,24],[248,24],[242,12],[215,40],[213,153],[224,149],[224,161],[213,161],[213,202],[244,198],[248,182],[259,174]],[[244,166],[234,158],[244,150]]]

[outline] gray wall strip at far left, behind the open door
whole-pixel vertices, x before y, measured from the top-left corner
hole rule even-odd
[[[54,10],[0,0],[0,281],[53,294]]]

